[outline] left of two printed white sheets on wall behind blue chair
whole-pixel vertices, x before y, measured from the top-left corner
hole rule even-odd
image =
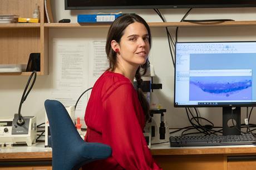
[[[78,97],[88,89],[88,44],[77,40],[53,39],[52,98],[65,106],[75,106]],[[75,117],[83,120],[87,94],[78,102]]]

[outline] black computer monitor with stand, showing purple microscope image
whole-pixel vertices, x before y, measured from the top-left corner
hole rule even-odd
[[[240,107],[256,105],[256,42],[180,42],[175,59],[174,106],[223,107],[223,135],[239,135]]]

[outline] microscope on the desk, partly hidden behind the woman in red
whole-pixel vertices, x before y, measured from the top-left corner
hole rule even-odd
[[[162,109],[160,105],[156,106],[152,102],[153,90],[162,89],[162,84],[152,83],[154,76],[154,67],[150,64],[147,73],[142,76],[143,83],[141,86],[141,90],[150,104],[151,118],[144,128],[144,136],[149,147],[151,147],[151,144],[169,142],[169,127],[164,119],[166,109]]]

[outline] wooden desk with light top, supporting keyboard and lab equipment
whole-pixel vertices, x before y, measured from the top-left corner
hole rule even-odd
[[[170,148],[169,143],[151,146],[154,159],[163,169],[174,170],[255,170],[256,147],[218,146],[218,147],[186,147]],[[51,170],[49,162],[52,159],[51,148],[45,148],[44,143],[36,143],[31,147],[13,146],[1,148],[0,163],[28,163],[22,170]],[[33,162],[35,162],[33,164]],[[46,164],[44,164],[46,162]],[[40,164],[41,163],[41,164]],[[48,163],[48,164],[47,164]],[[38,164],[37,166],[35,164]],[[17,167],[1,167],[0,169],[17,169]]]

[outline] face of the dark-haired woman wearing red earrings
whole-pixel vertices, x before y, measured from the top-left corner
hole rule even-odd
[[[150,50],[146,27],[139,22],[128,25],[117,48],[119,48],[117,58],[122,65],[124,63],[134,66],[145,64]]]

